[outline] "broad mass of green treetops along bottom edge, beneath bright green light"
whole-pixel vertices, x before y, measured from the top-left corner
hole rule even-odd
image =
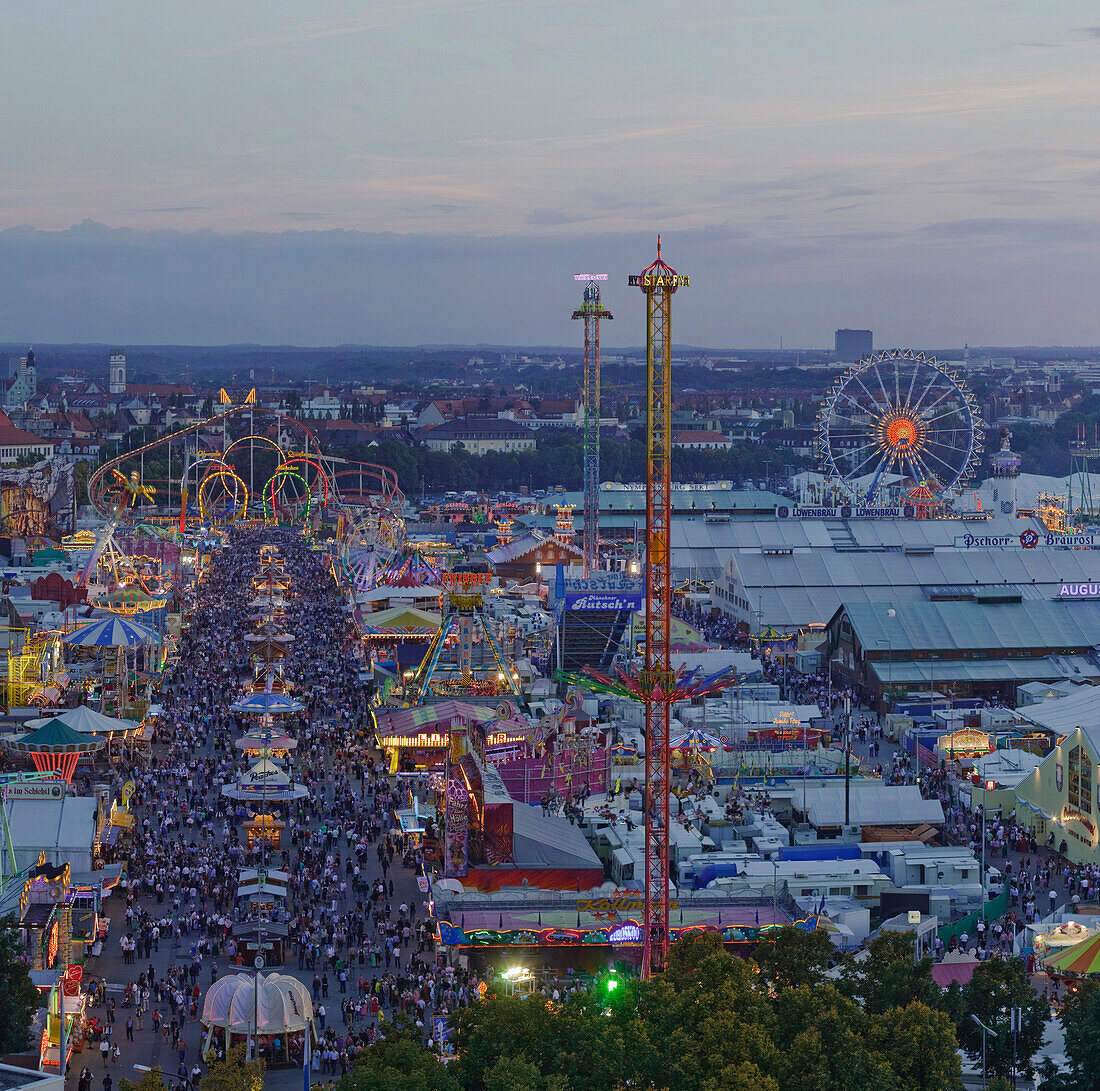
[[[755,957],[763,958],[771,946],[761,945]],[[903,946],[881,945],[868,977],[881,970],[889,981],[862,982],[860,989],[886,996],[897,984]],[[458,1058],[447,1067],[417,1037],[397,1031],[367,1050],[339,1087],[959,1091],[948,1015],[915,1000],[881,1013],[865,1010],[822,983],[825,952],[816,940],[777,937],[776,950],[783,978],[778,992],[752,962],[733,958],[717,936],[692,935],[672,947],[667,971],[649,982],[624,980],[608,992],[604,977],[591,993],[564,1003],[536,993],[460,1010],[451,1020]]]

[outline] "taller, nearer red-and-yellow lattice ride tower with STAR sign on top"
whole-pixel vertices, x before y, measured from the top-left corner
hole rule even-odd
[[[646,935],[642,978],[664,969],[669,954],[669,719],[672,670],[672,296],[690,280],[661,258],[628,280],[646,296]]]

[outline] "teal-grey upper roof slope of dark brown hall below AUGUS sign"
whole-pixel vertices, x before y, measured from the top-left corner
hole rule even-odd
[[[846,604],[864,648],[939,651],[1091,648],[1100,643],[1100,602]],[[1033,680],[1028,680],[1033,681]]]

